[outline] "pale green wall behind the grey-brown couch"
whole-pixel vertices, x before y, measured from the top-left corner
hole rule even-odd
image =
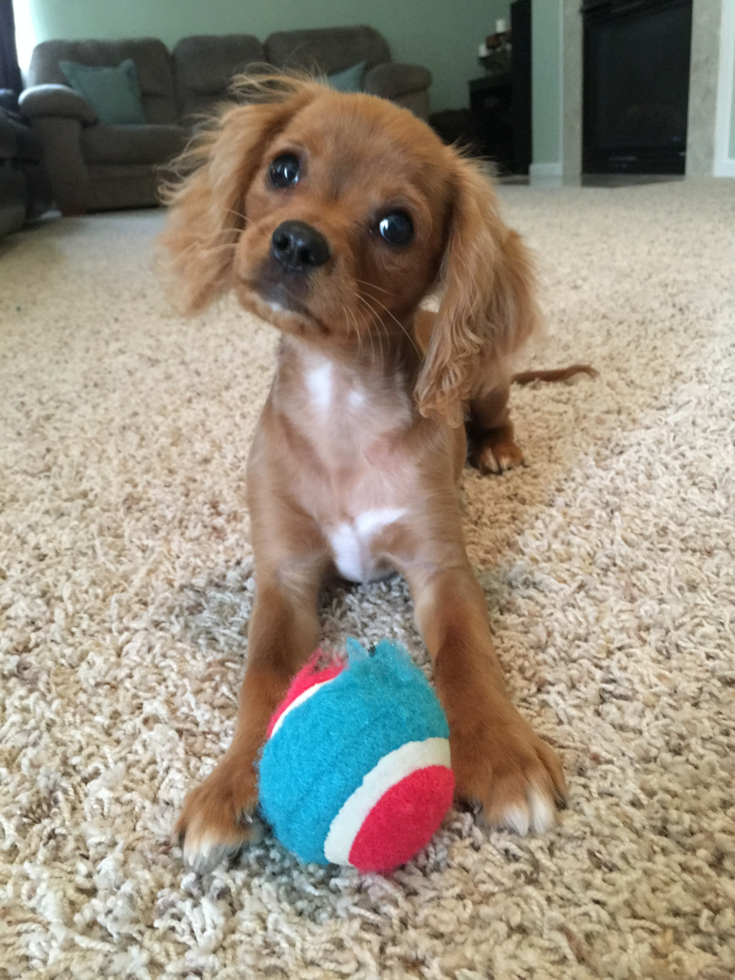
[[[396,61],[434,76],[432,111],[468,104],[467,82],[482,74],[477,49],[507,17],[509,0],[14,0],[27,7],[37,41],[159,37],[169,47],[189,34],[255,34],[370,24]]]

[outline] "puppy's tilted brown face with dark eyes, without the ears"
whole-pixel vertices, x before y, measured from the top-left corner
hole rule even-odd
[[[233,259],[243,306],[316,343],[359,344],[437,278],[447,151],[407,112],[328,90],[263,147]]]

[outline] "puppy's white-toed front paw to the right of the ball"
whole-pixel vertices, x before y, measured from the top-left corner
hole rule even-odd
[[[453,726],[450,745],[457,795],[479,803],[487,823],[524,835],[553,825],[566,798],[564,772],[515,708]]]

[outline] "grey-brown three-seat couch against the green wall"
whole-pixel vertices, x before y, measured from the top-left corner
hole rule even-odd
[[[115,67],[132,59],[144,124],[105,125],[72,89],[62,60]],[[44,41],[33,51],[20,106],[45,148],[54,199],[64,214],[157,203],[161,168],[183,149],[197,121],[228,96],[234,74],[254,64],[325,75],[365,61],[363,89],[428,119],[431,75],[391,60],[371,27],[281,31],[265,44],[248,34],[201,35],[173,51],[155,38]]]

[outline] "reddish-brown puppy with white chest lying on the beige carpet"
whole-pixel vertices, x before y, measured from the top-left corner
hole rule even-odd
[[[458,796],[493,826],[551,826],[562,767],[511,704],[462,539],[471,420],[479,464],[521,460],[514,353],[539,314],[528,252],[481,166],[390,102],[313,80],[240,83],[169,185],[163,244],[184,313],[234,290],[282,337],[247,471],[257,593],[232,745],[186,799],[186,862],[256,833],[256,761],[318,645],[330,574],[398,571],[451,731]],[[439,291],[436,315],[419,311]]]

